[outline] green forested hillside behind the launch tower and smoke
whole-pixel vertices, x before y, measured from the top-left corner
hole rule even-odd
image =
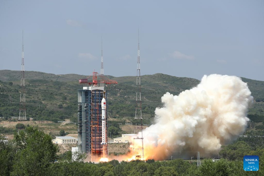
[[[54,75],[43,72],[26,71],[26,113],[34,120],[58,121],[71,119],[77,121],[77,90],[82,89],[78,79],[88,75]],[[106,85],[108,92],[108,115],[111,118],[132,117],[136,105],[136,76],[112,77],[118,84]],[[20,71],[0,70],[0,117],[9,118],[19,115]],[[262,122],[264,116],[264,82],[242,78],[254,97],[249,117],[254,122]],[[166,92],[178,95],[191,89],[199,80],[175,77],[157,73],[141,76],[142,113],[153,118],[156,107],[162,106],[161,97]],[[146,122],[146,119],[143,121]],[[151,121],[149,120],[148,123]],[[135,121],[136,123],[136,121]]]

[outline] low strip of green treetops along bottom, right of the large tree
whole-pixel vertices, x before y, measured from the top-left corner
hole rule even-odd
[[[201,166],[182,159],[169,161],[121,161],[111,160],[108,163],[58,162],[50,166],[47,175],[94,175],[94,176],[237,176],[264,174],[263,162],[260,161],[259,171],[244,171],[242,161],[228,161],[225,159],[213,162],[203,160]]]

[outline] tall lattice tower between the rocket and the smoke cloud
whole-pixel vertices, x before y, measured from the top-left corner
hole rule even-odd
[[[136,92],[136,115],[135,119],[141,119],[141,127],[137,128],[141,130],[141,137],[134,138],[140,139],[142,141],[142,148],[141,148],[141,160],[144,160],[144,147],[143,147],[143,125],[142,125],[142,107],[141,107],[141,83],[140,83],[140,57],[139,57],[139,29],[138,29],[138,61],[137,61],[137,87],[138,91]]]

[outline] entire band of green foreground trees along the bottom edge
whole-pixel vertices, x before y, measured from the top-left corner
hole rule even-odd
[[[241,149],[241,150],[239,150]],[[224,156],[224,153],[228,155]],[[135,160],[131,162],[111,160],[103,163],[84,163],[82,156],[77,161],[71,160],[71,152],[57,155],[59,148],[52,143],[52,138],[31,126],[19,133],[14,133],[14,140],[6,141],[0,137],[0,173],[9,175],[94,175],[94,176],[160,176],[160,175],[264,175],[263,150],[252,151],[244,141],[222,148],[220,155],[224,158],[213,161],[205,159],[198,167],[196,162],[182,159],[155,161]],[[235,155],[232,155],[235,153]],[[230,154],[230,155],[229,155]],[[244,171],[243,156],[258,155],[259,170]],[[231,158],[230,156],[233,156]]]

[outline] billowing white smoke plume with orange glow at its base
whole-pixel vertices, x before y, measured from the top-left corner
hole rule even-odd
[[[167,92],[161,101],[156,123],[143,131],[145,159],[163,160],[178,151],[217,154],[245,131],[253,97],[241,78],[214,74],[178,96]],[[141,146],[135,140],[134,148]]]

